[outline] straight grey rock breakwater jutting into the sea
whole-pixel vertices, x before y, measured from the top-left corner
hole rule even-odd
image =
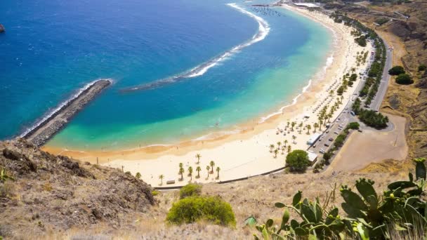
[[[81,93],[51,114],[51,116],[39,122],[31,131],[23,133],[20,136],[36,146],[44,145],[53,135],[64,128],[75,114],[83,109],[88,102],[93,100],[105,88],[110,86],[110,84],[112,84],[112,80],[110,79],[94,81],[84,91],[81,91]]]

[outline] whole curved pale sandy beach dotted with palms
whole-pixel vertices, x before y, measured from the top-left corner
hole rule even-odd
[[[99,164],[105,166],[123,168],[124,171],[130,171],[133,175],[140,173],[142,179],[153,187],[159,187],[159,175],[164,175],[163,187],[166,186],[166,180],[176,182],[167,185],[168,187],[187,184],[191,179],[188,176],[190,166],[193,168],[192,182],[218,182],[245,178],[283,167],[288,146],[291,146],[291,150],[308,148],[306,142],[313,134],[313,126],[318,122],[317,114],[322,107],[325,105],[331,107],[337,101],[336,98],[340,98],[339,101],[342,103],[331,116],[332,121],[343,111],[346,103],[352,100],[355,88],[361,81],[360,78],[357,78],[353,87],[349,87],[343,93],[342,99],[336,94],[336,89],[341,84],[342,76],[351,73],[350,69],[353,67],[357,74],[364,72],[367,62],[357,66],[357,55],[360,55],[359,53],[362,51],[368,51],[369,59],[372,51],[370,44],[363,48],[355,43],[354,37],[350,34],[350,27],[336,24],[327,15],[309,12],[301,8],[283,7],[305,15],[329,28],[331,34],[334,35],[334,46],[332,55],[325,62],[324,67],[313,76],[310,84],[303,89],[303,93],[295,96],[298,98],[294,98],[294,102],[290,102],[290,105],[277,109],[277,114],[272,114],[265,121],[252,119],[239,126],[241,129],[239,133],[213,136],[209,140],[191,140],[181,142],[179,145],[142,146],[117,152],[74,152],[51,147],[43,149],[53,154],[72,156],[82,161],[91,163],[98,161]],[[330,93],[331,90],[334,91],[333,94]],[[296,122],[294,131],[291,131],[291,127],[287,127],[288,122]],[[298,126],[301,123],[304,127],[300,133]],[[310,131],[305,127],[308,124],[311,126]],[[324,129],[322,127],[322,131]],[[317,133],[319,133],[318,129]],[[296,138],[294,139],[293,136]],[[269,146],[274,144],[277,147],[277,142],[281,142],[281,145],[285,145],[284,142],[286,142],[286,147],[275,157],[274,152],[270,152]],[[197,164],[196,154],[201,155],[199,164]],[[217,166],[221,168],[219,178],[216,178],[216,171],[209,174],[209,178],[207,178],[206,166],[210,161],[215,162],[215,169]],[[184,179],[181,181],[178,174],[178,164],[180,163],[185,168]],[[196,178],[197,166],[202,169],[200,178]]]

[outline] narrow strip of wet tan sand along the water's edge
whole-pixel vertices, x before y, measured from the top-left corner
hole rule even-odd
[[[319,91],[320,86],[313,86],[313,82],[317,84],[317,82],[322,81],[322,77],[327,73],[327,68],[331,66],[332,60],[336,59],[334,58],[334,55],[336,57],[339,55],[337,54],[336,44],[337,42],[337,36],[336,31],[329,27],[328,25],[325,25],[322,21],[317,20],[316,18],[312,18],[310,15],[306,15],[304,13],[301,13],[299,11],[296,11],[294,8],[288,7],[288,6],[282,6],[283,8],[286,8],[289,11],[293,11],[296,14],[303,15],[306,18],[309,18],[310,20],[313,20],[315,22],[320,22],[324,27],[329,29],[329,31],[333,34],[333,47],[331,49],[331,55],[327,57],[325,61],[325,65],[322,66],[318,72],[316,72],[313,75],[313,78],[308,81],[308,84],[306,86],[303,86],[302,90],[299,93],[296,93],[294,98],[292,98],[291,103],[279,106],[275,110],[270,113],[268,113],[266,116],[258,116],[256,118],[250,119],[246,123],[238,124],[238,128],[228,128],[224,129],[222,131],[214,131],[211,133],[207,133],[205,135],[197,136],[197,138],[190,138],[186,140],[180,140],[176,144],[153,144],[153,145],[145,145],[141,147],[131,147],[131,148],[125,148],[125,149],[112,149],[112,150],[73,150],[73,149],[64,149],[61,147],[51,147],[51,146],[45,146],[44,149],[48,152],[53,153],[62,153],[65,152],[67,154],[70,154],[70,156],[79,156],[80,158],[84,159],[90,159],[93,161],[93,159],[96,159],[95,156],[123,156],[124,154],[131,154],[133,152],[140,152],[141,154],[148,154],[155,156],[161,156],[162,154],[169,152],[170,149],[184,149],[186,147],[191,146],[197,146],[202,143],[209,142],[211,143],[210,147],[218,147],[218,145],[221,145],[223,142],[232,141],[235,139],[246,139],[243,135],[246,135],[249,133],[249,135],[255,135],[258,133],[261,133],[261,131],[265,129],[270,129],[271,125],[277,125],[277,120],[280,118],[282,114],[289,114],[294,112],[294,108],[298,107],[298,105],[306,105],[306,101],[310,99],[309,95],[312,95],[313,93],[317,93]],[[314,79],[314,80],[313,80]],[[322,84],[322,83],[320,83]],[[324,83],[323,83],[324,84]],[[298,100],[300,99],[300,100]],[[290,109],[289,109],[290,108]],[[284,112],[284,110],[287,109],[289,112]],[[265,127],[267,126],[267,127]],[[206,147],[206,146],[204,146]],[[114,157],[112,157],[114,159]]]

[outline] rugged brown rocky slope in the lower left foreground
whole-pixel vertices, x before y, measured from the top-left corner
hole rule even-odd
[[[126,230],[155,205],[152,188],[142,180],[118,169],[53,156],[25,140],[0,142],[2,169],[0,236],[6,239],[101,223]]]

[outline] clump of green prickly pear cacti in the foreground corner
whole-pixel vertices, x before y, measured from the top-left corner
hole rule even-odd
[[[310,201],[303,199],[298,191],[291,204],[276,202],[276,208],[284,208],[282,222],[275,225],[268,219],[256,226],[258,239],[426,239],[427,202],[426,159],[414,159],[415,175],[409,173],[409,180],[391,182],[387,190],[379,195],[374,181],[360,178],[355,189],[341,185],[339,192],[343,201],[341,208],[346,216],[340,216],[340,209],[333,206],[336,187],[326,192],[324,203],[320,198]],[[335,204],[335,203],[333,203]],[[298,215],[291,219],[289,210]],[[402,238],[390,235],[390,230],[402,232]]]

